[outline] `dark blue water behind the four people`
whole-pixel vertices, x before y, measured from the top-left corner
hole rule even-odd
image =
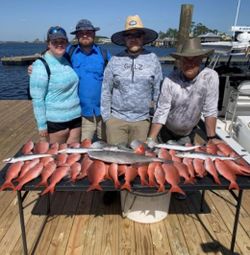
[[[123,48],[106,44],[103,48],[108,49],[112,55],[119,53]],[[167,56],[173,51],[170,48],[146,47],[157,56]],[[33,43],[6,43],[0,44],[0,58],[9,56],[32,55],[46,49],[46,44]],[[171,67],[162,65],[163,74],[166,76]],[[29,76],[27,66],[4,66],[0,63],[0,100],[2,99],[28,99],[27,89]]]

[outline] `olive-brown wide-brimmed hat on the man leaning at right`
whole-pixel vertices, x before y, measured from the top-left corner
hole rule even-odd
[[[214,52],[214,49],[202,49],[200,38],[189,38],[182,46],[181,52],[174,52],[170,55],[176,59],[182,57],[207,57]]]

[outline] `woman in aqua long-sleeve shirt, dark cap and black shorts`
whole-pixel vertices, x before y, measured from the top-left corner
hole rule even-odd
[[[30,76],[30,95],[41,139],[50,143],[81,140],[79,78],[64,57],[68,38],[59,26],[47,32],[48,50],[37,59]],[[50,76],[45,63],[49,66]]]

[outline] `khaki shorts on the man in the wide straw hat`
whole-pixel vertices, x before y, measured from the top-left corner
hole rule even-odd
[[[107,142],[124,145],[129,145],[133,140],[146,141],[150,126],[148,120],[129,122],[113,117],[105,124]]]

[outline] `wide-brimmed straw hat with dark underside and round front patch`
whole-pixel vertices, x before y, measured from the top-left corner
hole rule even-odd
[[[125,34],[128,31],[137,30],[144,34],[143,44],[153,42],[157,37],[158,33],[152,29],[145,28],[142,24],[141,18],[138,15],[128,16],[125,23],[125,30],[114,33],[111,36],[111,41],[114,44],[124,46],[125,45]]]

